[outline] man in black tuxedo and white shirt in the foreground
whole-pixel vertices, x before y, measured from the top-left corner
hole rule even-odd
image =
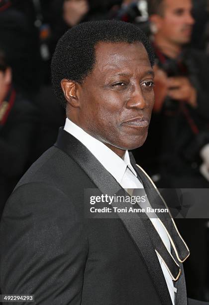
[[[67,120],[4,209],[2,294],[34,294],[44,305],[187,304],[189,249],[169,215],[86,214],[89,189],[102,196],[144,187],[149,203],[164,206],[127,151],[147,136],[153,63],[148,39],[129,23],[82,23],[59,40],[52,81]]]

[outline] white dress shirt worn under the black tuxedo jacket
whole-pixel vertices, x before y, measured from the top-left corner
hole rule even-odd
[[[86,146],[86,148],[92,152],[92,154],[94,154],[94,156],[100,161],[104,168],[124,189],[127,190],[132,188],[143,188],[142,183],[137,178],[137,174],[130,163],[128,151],[125,152],[123,158],[120,158],[106,145],[87,134],[83,129],[74,124],[68,118],[66,119],[64,130],[78,139],[84,146]],[[149,203],[148,205],[150,206]],[[150,220],[160,235],[167,250],[171,253],[170,240],[162,224],[158,221],[157,216],[156,218],[150,218]],[[174,305],[176,289],[174,288],[172,278],[166,268],[166,265],[159,256],[158,259],[168,286],[172,303]]]

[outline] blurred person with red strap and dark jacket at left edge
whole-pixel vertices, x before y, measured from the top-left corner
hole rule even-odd
[[[36,108],[12,84],[5,53],[0,47],[0,217],[6,199],[30,163],[37,126]]]

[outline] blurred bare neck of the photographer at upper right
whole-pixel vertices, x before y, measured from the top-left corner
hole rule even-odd
[[[182,46],[171,41],[165,40],[158,34],[155,35],[154,42],[163,54],[170,58],[177,58],[182,51]]]

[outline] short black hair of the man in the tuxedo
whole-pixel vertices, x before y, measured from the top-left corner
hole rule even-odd
[[[116,20],[89,21],[69,29],[58,41],[51,62],[52,84],[62,106],[66,100],[60,85],[66,78],[82,83],[94,68],[95,46],[98,42],[143,43],[151,66],[154,54],[145,33],[136,25]]]

